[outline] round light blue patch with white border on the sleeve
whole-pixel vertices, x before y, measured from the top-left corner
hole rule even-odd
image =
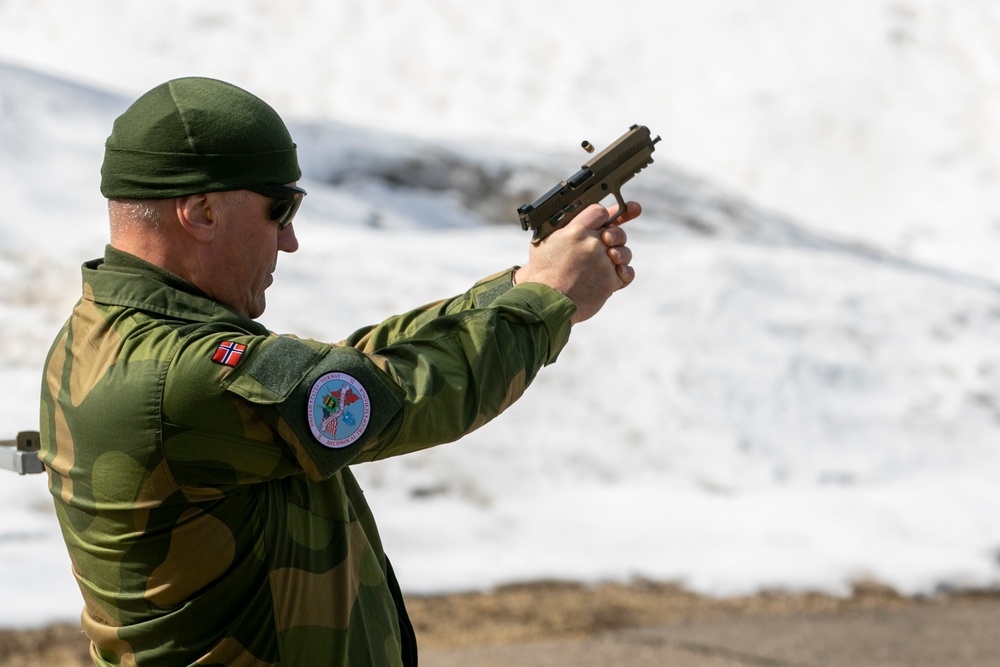
[[[346,447],[361,437],[371,418],[368,392],[346,373],[327,373],[309,392],[309,429],[327,447]]]

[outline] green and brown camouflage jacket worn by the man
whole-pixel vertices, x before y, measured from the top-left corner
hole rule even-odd
[[[401,664],[391,568],[346,466],[495,417],[572,312],[508,271],[331,345],[110,247],[85,264],[46,361],[41,458],[94,661]]]

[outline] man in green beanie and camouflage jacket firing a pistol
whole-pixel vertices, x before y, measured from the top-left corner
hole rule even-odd
[[[255,321],[304,196],[277,113],[169,81],[106,143],[111,242],[45,368],[50,487],[99,665],[402,665],[349,464],[460,438],[634,272],[594,206],[528,263],[331,345]],[[620,220],[639,214],[630,205]]]

